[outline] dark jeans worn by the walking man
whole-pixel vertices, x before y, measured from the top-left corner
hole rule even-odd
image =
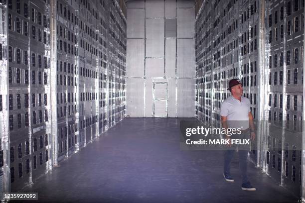
[[[232,136],[232,139],[249,139],[249,131],[243,132],[242,134],[238,136]],[[247,147],[246,147],[247,148]],[[229,147],[228,150],[225,150],[224,154],[224,173],[230,174],[230,167],[231,167],[231,161],[234,156],[236,146]],[[247,164],[248,164],[248,152],[249,149],[245,150],[245,147],[243,147],[242,150],[238,150],[239,153],[239,169],[240,173],[243,179],[243,183],[248,182],[248,176],[247,176]]]

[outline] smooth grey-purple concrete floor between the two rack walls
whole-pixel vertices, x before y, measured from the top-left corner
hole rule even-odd
[[[289,203],[298,199],[249,163],[256,192],[222,176],[221,151],[180,151],[179,119],[126,118],[22,192],[39,202]],[[37,201],[34,201],[37,203]]]

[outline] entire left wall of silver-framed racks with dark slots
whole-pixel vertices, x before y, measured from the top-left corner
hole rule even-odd
[[[7,0],[0,16],[0,192],[15,192],[125,117],[127,24],[115,0]]]

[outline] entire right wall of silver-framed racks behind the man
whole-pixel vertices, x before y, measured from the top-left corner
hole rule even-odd
[[[196,117],[220,126],[228,82],[239,78],[258,128],[250,160],[301,197],[304,0],[204,0],[195,52]]]

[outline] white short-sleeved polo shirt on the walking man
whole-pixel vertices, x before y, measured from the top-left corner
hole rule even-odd
[[[250,111],[250,101],[245,97],[241,97],[240,102],[230,96],[222,102],[220,107],[220,115],[227,116],[228,127],[241,128],[242,130],[249,128]]]

